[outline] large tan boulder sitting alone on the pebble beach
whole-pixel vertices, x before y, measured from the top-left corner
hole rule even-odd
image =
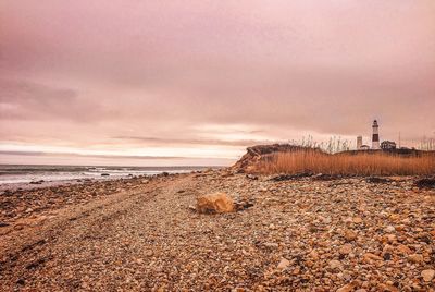
[[[232,212],[234,210],[234,200],[225,193],[204,195],[197,199],[197,211],[201,214]]]

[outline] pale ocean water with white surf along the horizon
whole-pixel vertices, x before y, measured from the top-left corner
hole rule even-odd
[[[0,165],[0,185],[38,181],[111,180],[162,172],[186,173],[207,167],[76,167],[76,166],[11,166]],[[103,175],[102,175],[103,174]],[[109,175],[108,175],[109,174]]]

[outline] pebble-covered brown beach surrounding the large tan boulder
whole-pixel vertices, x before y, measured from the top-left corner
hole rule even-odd
[[[433,291],[417,178],[228,169],[3,191],[2,291]],[[223,192],[235,212],[199,214]]]

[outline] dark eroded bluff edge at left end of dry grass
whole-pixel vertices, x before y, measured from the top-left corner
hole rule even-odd
[[[277,153],[288,153],[297,150],[313,150],[311,148],[295,146],[290,144],[257,145],[247,148],[247,153],[238,160],[232,170],[239,173],[256,172],[261,162],[272,159]]]

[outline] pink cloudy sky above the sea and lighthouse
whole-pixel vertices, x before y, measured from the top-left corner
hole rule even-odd
[[[2,0],[0,163],[435,136],[433,0]]]

